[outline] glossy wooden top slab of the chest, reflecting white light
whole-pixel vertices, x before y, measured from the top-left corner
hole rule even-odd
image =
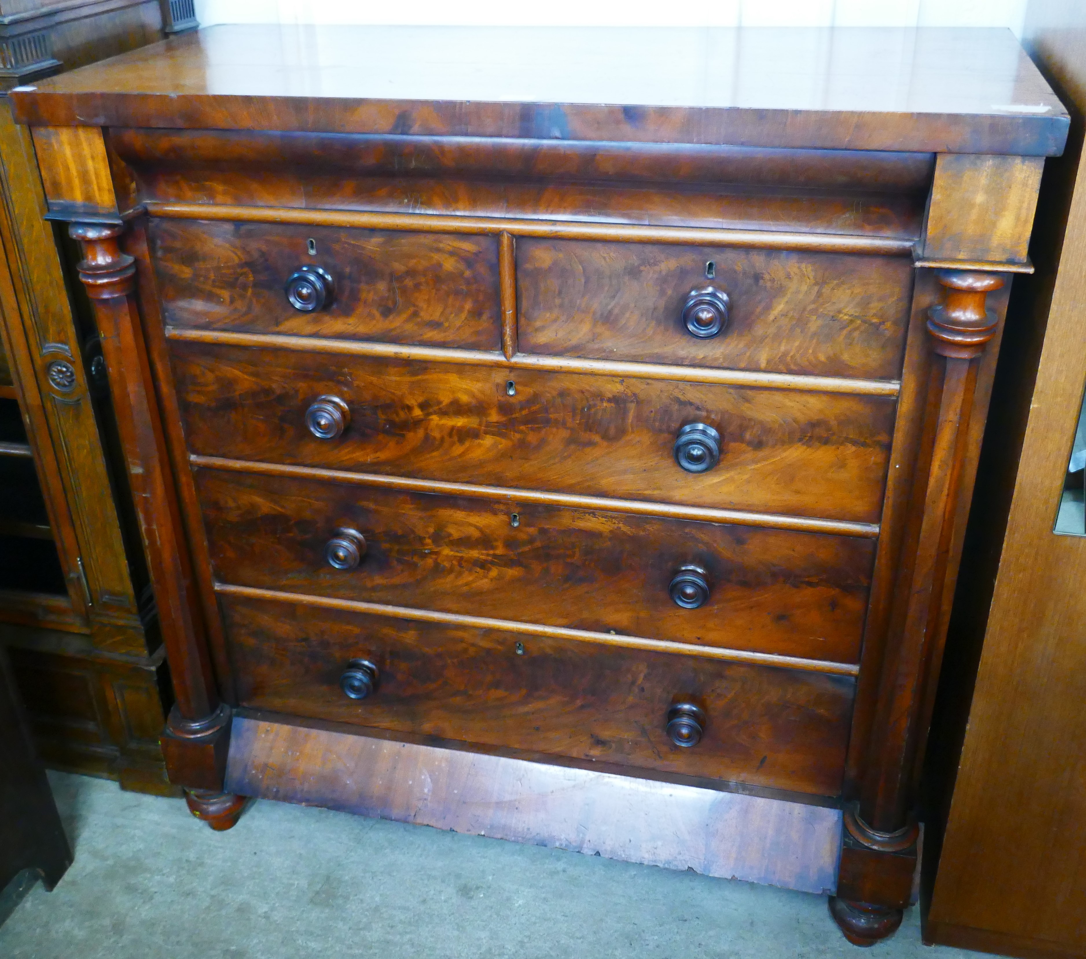
[[[247,24],[174,38],[168,70],[162,56],[15,91],[20,119],[1031,155],[1068,130],[996,30]]]

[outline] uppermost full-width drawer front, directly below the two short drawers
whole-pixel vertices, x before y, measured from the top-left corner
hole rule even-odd
[[[172,349],[198,454],[860,522],[881,510],[891,398]],[[350,424],[320,440],[306,411],[330,394]],[[721,437],[720,462],[687,472],[674,446],[697,422]]]

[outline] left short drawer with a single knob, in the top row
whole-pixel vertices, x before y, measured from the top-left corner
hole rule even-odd
[[[159,218],[150,241],[172,326],[494,351],[501,344],[493,237]],[[320,267],[331,280],[319,280],[328,290],[312,312],[287,296],[302,267]]]

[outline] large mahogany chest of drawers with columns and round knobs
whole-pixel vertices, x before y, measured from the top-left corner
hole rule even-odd
[[[835,918],[896,928],[1066,134],[1009,34],[217,27],[14,103],[83,244],[198,816],[353,808],[363,741],[445,756],[441,815],[471,756],[603,771],[760,804],[733,846],[830,816]]]

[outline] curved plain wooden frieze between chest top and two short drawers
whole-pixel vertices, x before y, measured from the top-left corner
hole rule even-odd
[[[931,153],[111,129],[143,202],[920,236]],[[254,175],[258,169],[258,174]]]

